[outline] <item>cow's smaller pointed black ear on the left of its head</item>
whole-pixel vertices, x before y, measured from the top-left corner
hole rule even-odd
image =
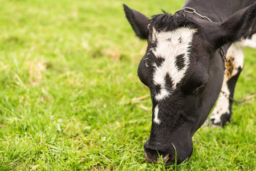
[[[126,18],[140,39],[148,39],[149,18],[124,4]]]

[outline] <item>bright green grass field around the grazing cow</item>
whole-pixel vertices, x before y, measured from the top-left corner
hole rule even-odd
[[[0,170],[165,170],[144,160],[151,99],[137,66],[147,42],[122,4],[151,16],[183,2],[0,0]],[[256,93],[256,50],[245,56],[235,99]],[[255,107],[234,104],[225,129],[201,127],[173,169],[256,170]]]

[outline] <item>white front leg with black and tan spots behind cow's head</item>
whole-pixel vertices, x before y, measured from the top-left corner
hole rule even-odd
[[[221,88],[222,92],[209,118],[213,125],[222,127],[226,125],[227,120],[230,120],[231,117],[233,102],[228,97],[233,98],[235,83],[237,83],[238,76],[243,68],[243,47],[238,44],[232,44],[227,50],[226,58],[227,70]]]

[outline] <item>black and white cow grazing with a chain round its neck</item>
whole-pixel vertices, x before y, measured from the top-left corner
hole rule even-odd
[[[153,105],[145,158],[156,163],[162,155],[165,165],[172,165],[177,157],[180,164],[191,156],[192,136],[208,117],[221,89],[233,97],[243,68],[242,45],[234,42],[243,42],[256,32],[256,2],[188,0],[176,14],[151,19],[126,5],[124,11],[136,35],[148,40],[138,69]],[[225,76],[221,47],[227,52]],[[225,125],[231,105],[221,93],[210,121]]]

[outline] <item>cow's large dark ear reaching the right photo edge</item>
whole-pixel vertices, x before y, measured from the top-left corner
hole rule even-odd
[[[210,23],[208,36],[214,48],[220,48],[226,43],[237,42],[250,33],[256,18],[256,2],[239,10],[222,23]]]

